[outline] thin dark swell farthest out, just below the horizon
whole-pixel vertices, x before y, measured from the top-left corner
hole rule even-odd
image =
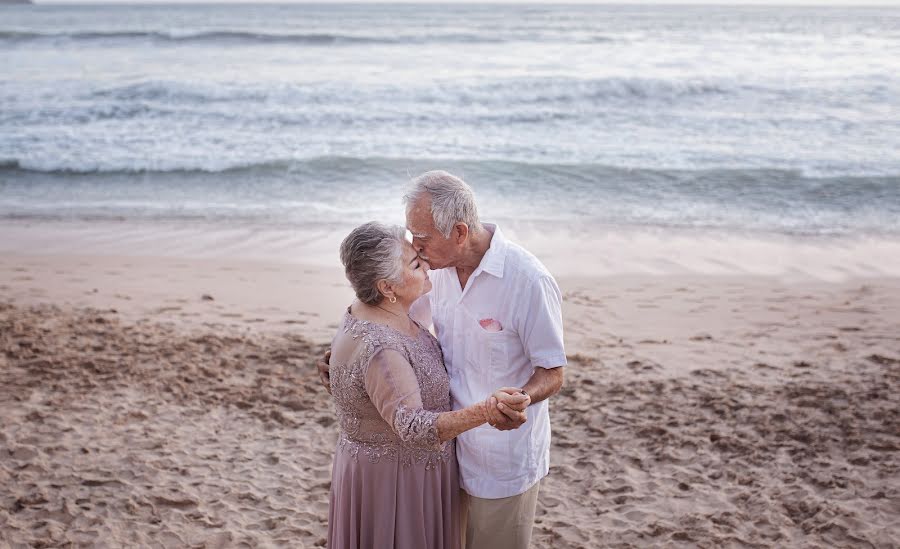
[[[81,31],[81,32],[28,32],[0,31],[0,41],[32,42],[46,40],[101,41],[101,40],[144,40],[172,43],[240,43],[240,44],[419,44],[430,42],[448,43],[503,43],[516,40],[543,40],[535,35],[495,36],[472,33],[408,34],[397,36],[365,36],[334,33],[266,33],[240,30],[172,33],[165,31]],[[582,38],[579,42],[605,43],[613,39],[596,35]]]

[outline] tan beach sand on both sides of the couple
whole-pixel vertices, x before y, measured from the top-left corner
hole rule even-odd
[[[0,546],[324,545],[340,270],[64,247],[0,250]],[[534,547],[900,546],[900,278],[558,280]]]

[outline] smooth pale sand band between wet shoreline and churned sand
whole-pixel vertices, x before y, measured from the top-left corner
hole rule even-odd
[[[618,339],[641,345],[699,341],[715,331],[710,327],[745,324],[748,334],[755,333],[749,326],[802,321],[812,327],[837,319],[863,326],[881,321],[900,330],[898,277],[834,282],[736,273],[622,273],[561,275],[557,281],[566,344],[573,354],[592,353]],[[331,340],[354,299],[337,267],[46,252],[0,252],[0,297],[17,306],[114,310],[123,321],[187,329],[299,332],[317,344]],[[656,353],[663,347],[651,349]]]

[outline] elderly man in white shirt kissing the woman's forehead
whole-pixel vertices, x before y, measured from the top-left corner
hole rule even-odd
[[[434,326],[453,408],[498,386],[525,396],[498,403],[494,428],[457,439],[465,546],[528,547],[550,469],[546,399],[562,387],[566,365],[559,288],[537,258],[481,223],[472,189],[458,177],[422,174],[404,201],[413,246],[433,269],[433,289],[411,315]],[[319,370],[327,383],[327,365]]]

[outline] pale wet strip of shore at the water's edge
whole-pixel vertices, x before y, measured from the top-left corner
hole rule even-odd
[[[387,220],[402,224],[402,219]],[[0,221],[0,256],[83,255],[312,267],[340,272],[338,248],[354,223]],[[900,278],[900,236],[791,236],[605,225],[501,224],[557,278],[751,276],[778,282]],[[338,275],[343,282],[343,275]]]

